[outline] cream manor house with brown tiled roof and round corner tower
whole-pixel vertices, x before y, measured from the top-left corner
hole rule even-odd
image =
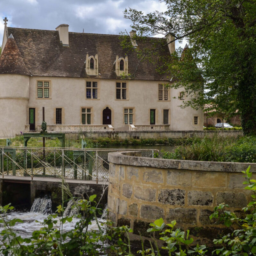
[[[0,57],[0,137],[40,131],[203,130],[203,110],[180,108],[188,97],[173,89],[171,74],[157,71],[170,43],[143,61],[143,49],[161,38],[7,27]],[[171,41],[172,36],[167,39]],[[166,42],[166,41],[165,41]]]

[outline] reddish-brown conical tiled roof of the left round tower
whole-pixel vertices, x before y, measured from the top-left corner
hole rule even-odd
[[[20,55],[12,35],[9,36],[0,57],[0,74],[28,75],[30,73]]]

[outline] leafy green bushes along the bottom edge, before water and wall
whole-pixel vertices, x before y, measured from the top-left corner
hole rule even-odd
[[[142,243],[139,253],[142,256],[250,256],[256,254],[256,180],[252,179],[250,166],[243,172],[246,177],[245,189],[251,191],[252,201],[242,209],[242,213],[228,211],[228,205],[223,203],[214,208],[210,219],[215,218],[218,224],[232,228],[233,232],[214,239],[213,243],[217,249],[212,253],[206,245],[193,245],[193,238],[189,236],[189,230],[183,231],[176,228],[176,221],[165,224],[160,218],[150,223],[148,232],[159,233],[159,239],[164,242],[159,248],[153,240],[151,247],[145,248]],[[67,185],[62,186],[62,192],[71,193]],[[0,254],[4,256],[73,256],[73,255],[129,255],[131,252],[128,233],[132,232],[127,226],[113,227],[111,222],[99,222],[96,215],[100,209],[94,202],[95,195],[88,199],[74,200],[74,207],[79,210],[76,215],[75,228],[70,231],[63,231],[62,225],[72,221],[74,216],[63,217],[63,206],[59,206],[57,213],[49,215],[43,222],[44,227],[33,232],[29,238],[21,238],[12,229],[20,219],[7,220],[5,214],[12,210],[10,205],[0,206],[0,223],[3,226],[1,231]],[[89,225],[95,219],[98,230],[90,230]],[[125,238],[126,236],[126,238]]]

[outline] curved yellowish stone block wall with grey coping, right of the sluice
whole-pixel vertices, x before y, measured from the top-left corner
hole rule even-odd
[[[146,158],[138,151],[109,153],[108,160],[109,217],[144,239],[148,224],[162,217],[190,229],[195,242],[212,245],[217,234],[229,231],[209,219],[214,207],[225,202],[239,213],[250,200],[241,173],[249,164]]]

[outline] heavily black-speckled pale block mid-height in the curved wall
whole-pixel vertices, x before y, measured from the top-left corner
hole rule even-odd
[[[158,202],[162,204],[184,205],[185,190],[183,189],[161,189]]]

